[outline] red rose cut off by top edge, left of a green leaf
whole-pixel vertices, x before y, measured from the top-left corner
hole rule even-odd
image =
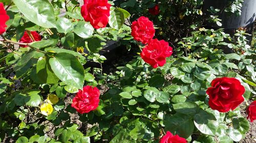
[[[81,14],[96,29],[105,27],[109,22],[111,4],[108,0],[83,0]]]

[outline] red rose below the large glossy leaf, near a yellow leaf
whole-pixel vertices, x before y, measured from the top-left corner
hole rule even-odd
[[[71,106],[79,113],[88,113],[95,110],[99,105],[99,90],[96,87],[89,85],[83,87],[83,90],[79,90],[76,96],[73,98]]]

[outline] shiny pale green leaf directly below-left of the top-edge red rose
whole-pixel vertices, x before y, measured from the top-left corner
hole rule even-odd
[[[94,28],[89,22],[79,21],[73,31],[81,38],[89,38],[93,35]]]

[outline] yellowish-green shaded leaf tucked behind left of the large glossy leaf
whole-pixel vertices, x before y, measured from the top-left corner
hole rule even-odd
[[[53,73],[49,60],[46,57],[41,57],[38,59],[36,64],[37,77],[42,83],[58,83],[59,78]]]

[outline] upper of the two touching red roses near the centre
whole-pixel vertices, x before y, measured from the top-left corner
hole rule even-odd
[[[141,16],[132,23],[132,36],[134,40],[146,44],[155,35],[154,24],[147,17]]]

